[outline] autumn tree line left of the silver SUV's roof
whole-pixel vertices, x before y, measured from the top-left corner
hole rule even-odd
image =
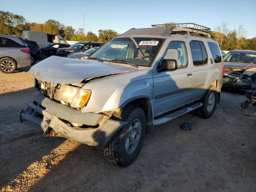
[[[26,30],[59,34],[65,40],[70,41],[107,42],[108,40],[120,35],[118,32],[111,29],[98,30],[98,36],[91,31],[84,33],[82,28],[75,30],[72,26],[65,26],[64,24],[52,19],[47,20],[42,24],[34,22],[30,23],[21,15],[13,14],[8,11],[0,11],[0,34],[21,37],[22,31]]]

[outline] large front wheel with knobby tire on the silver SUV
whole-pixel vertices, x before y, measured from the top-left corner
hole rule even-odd
[[[126,124],[104,149],[106,158],[119,166],[130,165],[137,157],[146,134],[146,116],[142,108],[127,106],[122,109],[119,120]]]

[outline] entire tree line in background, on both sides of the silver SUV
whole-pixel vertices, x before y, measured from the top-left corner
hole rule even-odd
[[[174,22],[165,23],[172,26]],[[75,30],[72,26],[65,26],[56,20],[47,20],[41,23],[29,23],[26,19],[11,12],[0,11],[0,34],[22,36],[22,31],[31,30],[36,32],[46,32],[59,34],[65,40],[71,41],[99,41],[107,42],[108,40],[119,36],[118,32],[108,30],[98,30],[99,35],[89,31],[84,33],[82,28]],[[256,37],[246,39],[246,30],[242,25],[238,29],[228,29],[228,23],[222,22],[220,26],[216,26],[210,32],[212,39],[216,40],[221,50],[256,50]]]

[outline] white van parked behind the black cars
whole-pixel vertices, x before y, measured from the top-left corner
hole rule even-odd
[[[22,39],[36,41],[39,46],[46,43],[63,43],[68,44],[64,38],[58,34],[36,32],[36,31],[23,31]]]

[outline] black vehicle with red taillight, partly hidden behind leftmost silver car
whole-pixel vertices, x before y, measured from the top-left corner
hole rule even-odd
[[[36,61],[42,59],[41,48],[39,47],[39,45],[38,45],[35,41],[26,40],[26,39],[23,39],[22,41],[26,44],[26,46],[27,46],[27,47],[29,48],[29,50],[30,50],[31,64],[32,64],[32,65],[33,65]]]

